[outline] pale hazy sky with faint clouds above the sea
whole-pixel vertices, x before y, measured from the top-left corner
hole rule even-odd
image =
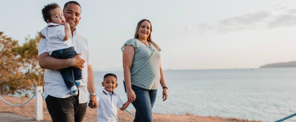
[[[56,2],[1,0],[0,31],[25,42],[46,26],[41,10]],[[77,1],[77,32],[88,40],[95,71],[122,70],[121,46],[137,23],[151,21],[164,70],[258,68],[296,61],[294,0]]]

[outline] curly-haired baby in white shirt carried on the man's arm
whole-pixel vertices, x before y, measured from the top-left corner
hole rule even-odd
[[[71,34],[70,25],[65,22],[61,7],[56,3],[47,4],[42,9],[42,15],[47,26],[40,31],[39,36],[47,39],[49,55],[57,59],[73,58],[77,55],[72,41],[69,39]],[[75,81],[72,77],[72,70]],[[59,71],[67,88],[71,89],[71,95],[78,95],[77,86],[85,86],[81,82],[81,70],[68,67]]]

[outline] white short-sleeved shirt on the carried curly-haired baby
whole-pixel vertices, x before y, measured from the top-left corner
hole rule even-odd
[[[47,23],[47,26],[40,32],[47,39],[47,49],[49,51],[49,55],[51,55],[53,51],[73,47],[70,38],[67,41],[64,41],[66,34],[65,27],[63,25]]]

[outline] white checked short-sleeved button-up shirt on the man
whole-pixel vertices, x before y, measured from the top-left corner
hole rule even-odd
[[[71,34],[70,34],[71,35]],[[74,49],[77,53],[81,53],[81,58],[85,60],[84,68],[82,68],[82,82],[87,85],[87,66],[91,64],[88,43],[86,38],[77,33],[76,30],[73,32],[73,36],[70,36],[71,43],[74,45]],[[70,41],[68,40],[68,41]],[[38,56],[49,52],[47,49],[47,39],[42,38],[38,46]],[[57,98],[67,98],[71,96],[70,89],[67,88],[62,75],[59,71],[45,69],[44,73],[44,97],[48,95]],[[88,100],[88,91],[86,87],[79,87],[79,103],[85,103]]]

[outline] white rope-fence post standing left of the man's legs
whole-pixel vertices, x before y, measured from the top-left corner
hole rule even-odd
[[[43,93],[43,87],[42,86],[36,86],[35,88],[35,120],[39,121],[43,119],[43,97],[41,93]]]

